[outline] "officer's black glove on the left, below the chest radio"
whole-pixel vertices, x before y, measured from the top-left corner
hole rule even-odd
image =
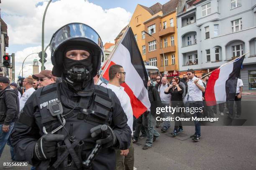
[[[47,160],[57,156],[56,145],[64,140],[64,135],[47,134],[43,135],[36,143],[33,150],[33,158]]]

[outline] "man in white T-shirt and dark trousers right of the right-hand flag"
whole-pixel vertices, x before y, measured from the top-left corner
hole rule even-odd
[[[236,117],[241,116],[241,100],[242,100],[242,92],[243,92],[243,81],[238,78],[236,83],[236,96],[235,96],[235,105],[236,105]],[[234,113],[234,100],[228,101],[228,117],[235,117]]]

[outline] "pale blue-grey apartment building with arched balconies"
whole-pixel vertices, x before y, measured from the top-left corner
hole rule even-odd
[[[180,0],[177,7],[179,70],[210,72],[249,52],[244,90],[256,90],[256,0]]]

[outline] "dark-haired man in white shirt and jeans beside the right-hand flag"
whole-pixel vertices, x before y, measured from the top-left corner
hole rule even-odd
[[[199,107],[203,107],[202,103],[202,92],[205,92],[205,87],[202,80],[195,77],[195,71],[190,69],[187,71],[187,101],[189,101],[189,107],[197,107],[197,112],[193,114],[193,117],[199,118],[201,113],[198,111]],[[201,125],[199,121],[195,120],[195,134],[190,136],[194,141],[200,141],[201,138]]]

